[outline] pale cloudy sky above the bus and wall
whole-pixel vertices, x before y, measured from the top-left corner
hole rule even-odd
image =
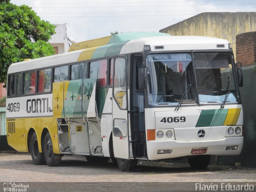
[[[255,12],[256,0],[11,0],[52,24],[67,26],[76,42],[110,32],[159,31],[202,12]]]

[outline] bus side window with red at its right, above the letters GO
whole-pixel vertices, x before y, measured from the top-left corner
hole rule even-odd
[[[36,71],[23,74],[23,94],[34,94],[36,92]]]

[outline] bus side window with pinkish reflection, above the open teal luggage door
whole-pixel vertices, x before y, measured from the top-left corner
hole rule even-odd
[[[90,62],[90,78],[96,78],[96,87],[107,85],[107,60]]]

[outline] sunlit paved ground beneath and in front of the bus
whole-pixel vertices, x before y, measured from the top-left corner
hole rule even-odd
[[[256,169],[195,171],[188,164],[139,162],[135,172],[122,173],[111,161],[92,165],[80,156],[64,156],[59,167],[48,167],[35,166],[30,154],[0,153],[0,182],[256,182]]]

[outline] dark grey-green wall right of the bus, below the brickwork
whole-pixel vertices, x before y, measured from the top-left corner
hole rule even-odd
[[[244,86],[240,94],[244,112],[244,146],[239,156],[220,156],[224,165],[234,166],[240,162],[243,167],[256,167],[256,73],[254,66],[244,66]]]

